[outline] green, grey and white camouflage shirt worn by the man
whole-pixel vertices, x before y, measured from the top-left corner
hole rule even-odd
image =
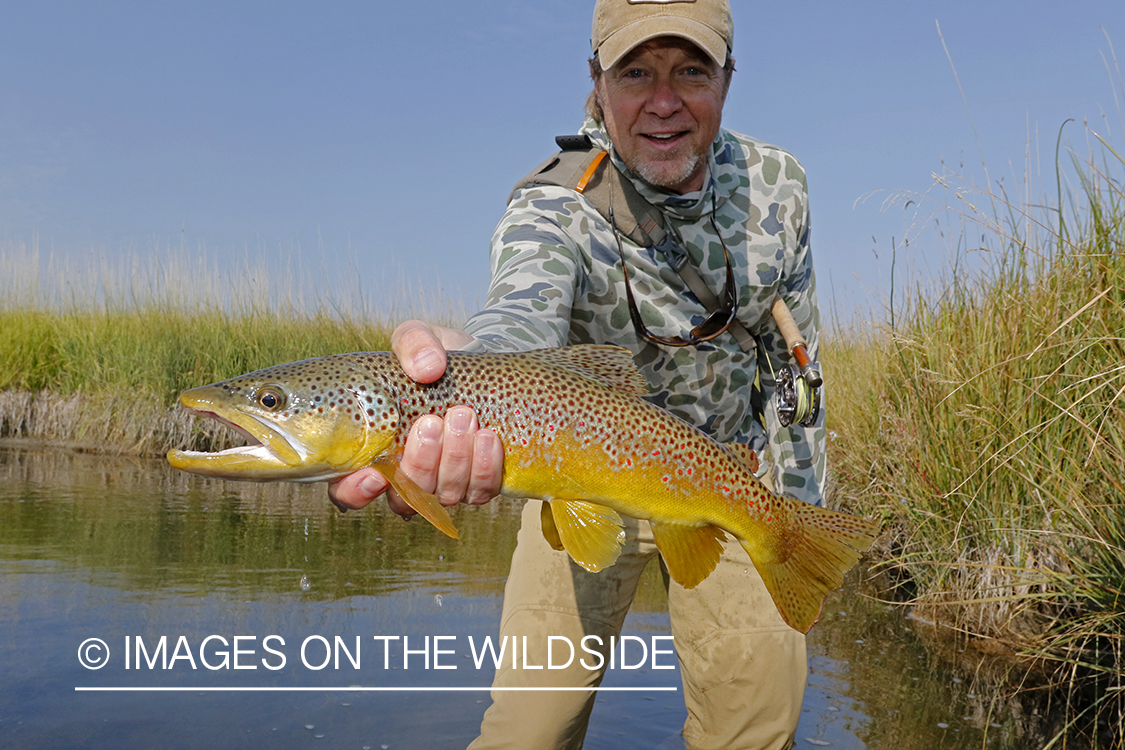
[[[640,193],[665,215],[666,228],[688,251],[691,262],[717,295],[726,281],[722,245],[739,280],[738,319],[758,340],[746,353],[730,333],[698,346],[650,344],[633,331],[616,240],[609,222],[582,195],[556,186],[529,186],[507,206],[492,242],[492,283],[485,308],[466,325],[470,349],[521,351],[565,344],[616,344],[652,389],[650,400],[721,442],[749,444],[759,455],[767,436],[750,407],[755,369],[762,368],[766,426],[773,440],[778,489],[820,504],[825,477],[824,408],[812,427],[782,427],[773,408],[774,369],[789,362],[785,342],[770,307],[781,295],[818,355],[820,317],[812,256],[809,205],[801,164],[786,151],[730,130],[711,146],[709,177],[700,192],[672,195],[626,171],[601,127],[582,132],[610,151]],[[713,202],[712,202],[713,201]],[[633,296],[649,331],[684,335],[708,310],[663,255],[622,236]],[[768,362],[767,362],[768,359]]]

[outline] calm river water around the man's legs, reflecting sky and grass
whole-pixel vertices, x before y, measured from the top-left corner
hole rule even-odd
[[[341,515],[323,485],[0,449],[0,748],[464,748],[519,507],[454,513],[460,542],[385,506]],[[1040,747],[1018,696],[860,590],[810,634],[798,748]],[[633,689],[600,694],[586,748],[683,747],[669,634],[649,566],[603,683]]]

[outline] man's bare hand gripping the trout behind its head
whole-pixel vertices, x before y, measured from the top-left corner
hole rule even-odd
[[[446,372],[447,350],[472,341],[464,331],[421,320],[403,323],[390,336],[390,346],[407,376],[434,382]],[[492,430],[482,430],[467,406],[454,406],[446,418],[424,416],[412,426],[403,451],[402,469],[418,487],[433,493],[442,505],[482,505],[500,495],[504,448]],[[361,508],[382,493],[388,482],[375,469],[360,469],[328,485],[328,498],[345,512]],[[390,509],[410,518],[414,510],[393,489]]]

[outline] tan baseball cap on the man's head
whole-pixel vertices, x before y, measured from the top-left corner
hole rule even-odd
[[[694,43],[722,67],[734,47],[729,0],[597,0],[590,44],[609,70],[639,44],[658,36]]]

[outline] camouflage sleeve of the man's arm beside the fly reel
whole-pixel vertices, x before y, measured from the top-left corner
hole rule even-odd
[[[788,155],[786,155],[788,156]],[[792,159],[791,156],[788,156]],[[820,311],[817,307],[817,282],[812,271],[812,254],[809,247],[809,201],[804,186],[804,172],[800,172],[798,209],[786,217],[786,253],[783,261],[778,295],[785,300],[793,319],[808,343],[809,356],[820,361]],[[762,336],[764,352],[759,353],[758,368],[762,373],[763,397],[774,404],[774,386],[771,374],[778,364],[788,363],[791,356],[785,340],[776,326],[771,325]],[[763,361],[768,358],[770,362]],[[777,470],[778,489],[806,503],[824,504],[825,475],[827,469],[827,431],[825,430],[825,387],[820,388],[820,414],[810,427],[794,424],[782,427],[774,408],[766,408],[766,426],[770,433],[770,452]]]

